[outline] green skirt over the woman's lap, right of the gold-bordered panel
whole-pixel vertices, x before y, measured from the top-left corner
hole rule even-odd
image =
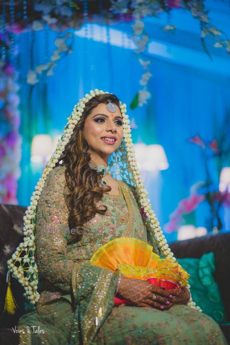
[[[185,305],[166,311],[114,307],[102,326],[106,344],[227,344],[219,325]]]

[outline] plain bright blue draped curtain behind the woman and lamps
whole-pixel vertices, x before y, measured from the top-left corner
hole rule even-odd
[[[194,19],[192,22],[196,32],[198,24]],[[125,28],[116,26],[114,29],[123,28],[131,32],[131,24],[127,24]],[[148,30],[148,34],[155,39],[153,27]],[[164,35],[166,39],[167,34]],[[188,41],[178,36],[177,48],[182,47],[185,54],[183,63],[180,62],[182,56],[179,54],[178,57],[175,49],[172,58],[164,56],[157,49],[153,53],[149,50],[142,56],[151,60],[153,76],[148,84],[151,98],[147,105],[130,110],[131,100],[141,88],[139,80],[143,73],[132,44],[130,41],[126,42],[125,48],[119,44],[81,36],[75,35],[74,53],[57,62],[54,75],[43,78],[34,86],[26,83],[26,75],[29,68],[45,62],[45,33],[28,32],[17,37],[21,51],[16,64],[20,72],[20,132],[23,139],[18,203],[29,204],[41,173],[30,163],[32,137],[40,133],[62,132],[66,118],[79,98],[90,89],[99,88],[116,94],[127,104],[127,113],[131,119],[135,119],[137,125],[137,128],[132,130],[134,143],[160,144],[165,149],[169,169],[160,172],[158,176],[148,173],[146,179],[152,208],[160,224],[164,226],[178,202],[189,195],[193,183],[205,179],[200,150],[188,140],[196,134],[209,142],[214,138],[218,139],[226,113],[230,116],[230,68],[224,73],[221,66],[218,70],[215,61],[211,65],[211,60],[199,46],[198,36],[196,39],[199,48],[195,47],[193,54],[190,54],[190,48],[187,47]],[[56,37],[56,33],[49,31],[49,41],[46,41],[49,56],[53,53]],[[162,39],[158,37],[158,42],[162,42]],[[172,40],[169,43],[164,42],[166,50],[171,43]],[[172,53],[173,48],[170,49]],[[196,61],[197,66],[193,61],[196,52],[203,59],[200,64]],[[216,61],[222,59],[230,66],[225,53],[218,51],[216,54]],[[190,60],[187,59],[188,56]],[[207,67],[209,64],[210,68]],[[225,165],[230,166],[230,161],[226,161]],[[196,213],[197,226],[205,226],[205,213],[208,215],[209,210],[208,206],[203,205]],[[225,228],[229,229],[229,225],[225,224]],[[170,240],[174,238],[175,234],[168,236]]]

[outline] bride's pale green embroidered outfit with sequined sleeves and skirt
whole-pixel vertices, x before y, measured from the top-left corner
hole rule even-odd
[[[49,174],[38,201],[36,254],[40,300],[23,315],[17,329],[22,344],[227,344],[215,321],[185,305],[167,311],[113,306],[116,272],[89,260],[114,238],[148,242],[133,187],[119,181],[119,195],[106,195],[107,206],[83,226],[73,242],[64,200],[64,167]],[[152,245],[152,243],[150,243]],[[24,332],[22,332],[22,330]]]

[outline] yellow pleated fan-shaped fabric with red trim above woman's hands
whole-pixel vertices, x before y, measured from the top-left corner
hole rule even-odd
[[[144,241],[121,237],[100,247],[91,257],[90,264],[118,270],[126,277],[147,280],[167,290],[185,286],[188,272],[178,262],[161,259],[152,250],[153,247]]]

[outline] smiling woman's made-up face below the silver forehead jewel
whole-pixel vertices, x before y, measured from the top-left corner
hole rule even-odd
[[[124,135],[122,114],[119,107],[115,106],[116,112],[109,112],[106,104],[100,103],[91,111],[84,123],[84,139],[91,151],[102,157],[109,156],[117,150]]]

